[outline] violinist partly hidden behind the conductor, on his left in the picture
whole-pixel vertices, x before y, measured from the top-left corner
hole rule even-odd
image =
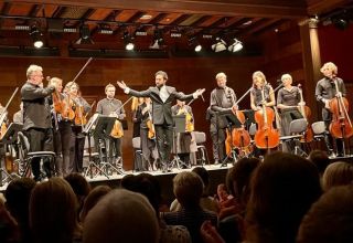
[[[151,98],[143,98],[143,103],[138,106],[137,119],[140,120],[140,138],[142,150],[142,171],[157,169],[158,150],[156,145],[156,130],[152,123],[152,103]]]

